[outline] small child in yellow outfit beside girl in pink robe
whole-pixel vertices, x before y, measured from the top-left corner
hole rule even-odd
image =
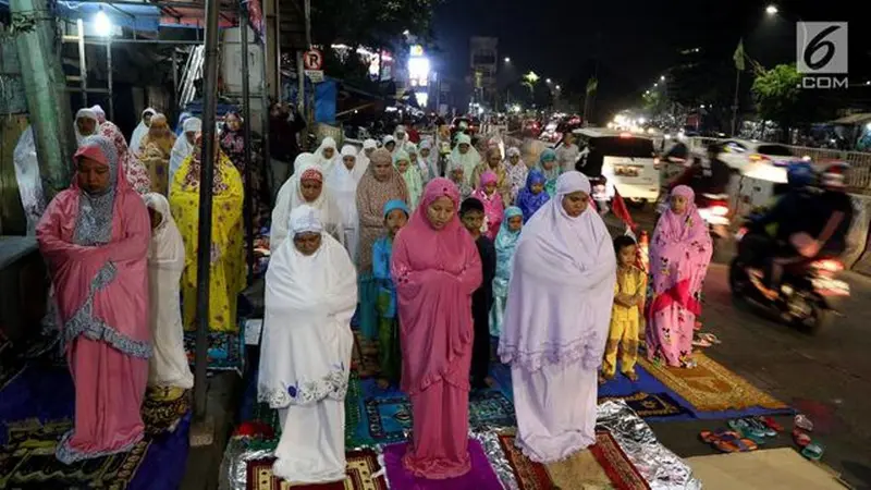
[[[617,256],[617,282],[614,284],[614,306],[611,310],[611,327],[605,344],[605,358],[599,382],[612,378],[617,370],[617,351],[621,351],[621,372],[631,381],[638,380],[635,364],[638,359],[641,311],[645,307],[647,275],[635,267],[637,245],[630,236],[614,238]]]

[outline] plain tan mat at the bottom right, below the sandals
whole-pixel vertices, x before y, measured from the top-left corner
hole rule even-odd
[[[685,460],[704,490],[843,490],[825,468],[789,448]]]

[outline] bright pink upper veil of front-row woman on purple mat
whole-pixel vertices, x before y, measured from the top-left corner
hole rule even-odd
[[[427,209],[439,197],[459,205],[453,182],[437,177],[393,243],[391,273],[402,326],[402,390],[415,395],[444,379],[469,385],[471,293],[481,285],[481,259],[456,213],[434,230]]]

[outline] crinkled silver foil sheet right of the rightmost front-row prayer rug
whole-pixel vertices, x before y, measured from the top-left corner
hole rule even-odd
[[[701,490],[689,466],[657,440],[650,426],[626,402],[600,404],[596,425],[611,431],[651,490]]]

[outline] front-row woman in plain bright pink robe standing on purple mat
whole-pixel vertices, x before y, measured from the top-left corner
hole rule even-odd
[[[402,342],[402,384],[412,399],[414,439],[403,457],[412,474],[453,478],[471,469],[468,451],[471,293],[481,259],[457,217],[459,191],[427,184],[393,242]]]

